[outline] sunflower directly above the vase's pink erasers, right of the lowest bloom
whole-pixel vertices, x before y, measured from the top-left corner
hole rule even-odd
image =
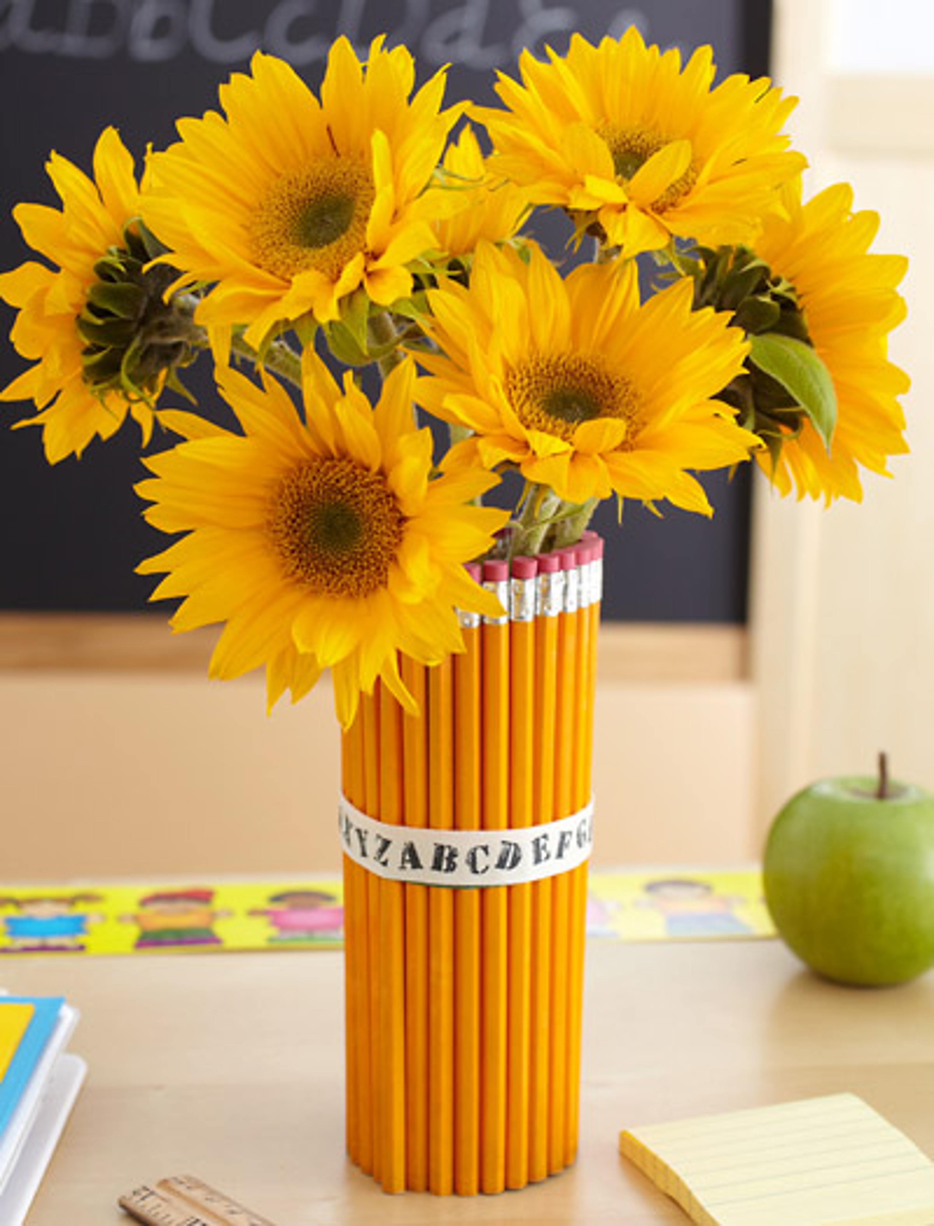
[[[469,289],[429,293],[442,353],[419,358],[416,400],[474,432],[446,466],[516,466],[574,504],[615,492],[711,514],[685,470],[748,460],[759,440],[711,398],[745,340],[728,313],[693,311],[691,293],[685,278],[640,305],[631,262],[563,281],[534,245],[528,264],[480,245]]]

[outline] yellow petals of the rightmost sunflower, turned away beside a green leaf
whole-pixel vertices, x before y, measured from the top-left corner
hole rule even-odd
[[[862,501],[859,466],[890,476],[886,459],[908,450],[898,396],[911,380],[886,357],[887,333],[905,318],[896,287],[908,261],[869,251],[879,216],[852,211],[848,184],[804,205],[795,184],[783,199],[783,215],[767,221],[755,253],[794,289],[808,340],[833,380],[837,421],[830,450],[803,417],[775,463],[767,454],[756,459],[783,494]]]

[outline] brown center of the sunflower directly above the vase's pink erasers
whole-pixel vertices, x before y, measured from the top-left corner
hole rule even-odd
[[[506,371],[514,412],[530,430],[570,441],[581,422],[612,417],[635,423],[639,400],[625,375],[594,356],[534,354]]]

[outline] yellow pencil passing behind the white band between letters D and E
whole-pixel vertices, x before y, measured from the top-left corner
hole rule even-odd
[[[510,582],[510,826],[533,825],[534,558],[514,558]],[[532,885],[509,888],[506,1187],[528,1183]]]

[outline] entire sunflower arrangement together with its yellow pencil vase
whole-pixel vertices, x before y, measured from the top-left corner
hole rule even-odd
[[[445,107],[380,38],[319,96],[257,54],[139,183],[113,129],[93,178],[53,153],[61,207],[15,215],[45,262],[0,276],[32,363],[0,396],[51,463],[136,419],[177,537],[140,570],[222,624],[212,676],[331,672],[347,1145],[392,1192],[576,1154],[594,509],[710,515],[695,473],[749,461],[859,499],[906,450],[906,261],[848,186],[803,200],[793,99],[635,29],[496,88]],[[202,354],[226,424],[178,401]]]

